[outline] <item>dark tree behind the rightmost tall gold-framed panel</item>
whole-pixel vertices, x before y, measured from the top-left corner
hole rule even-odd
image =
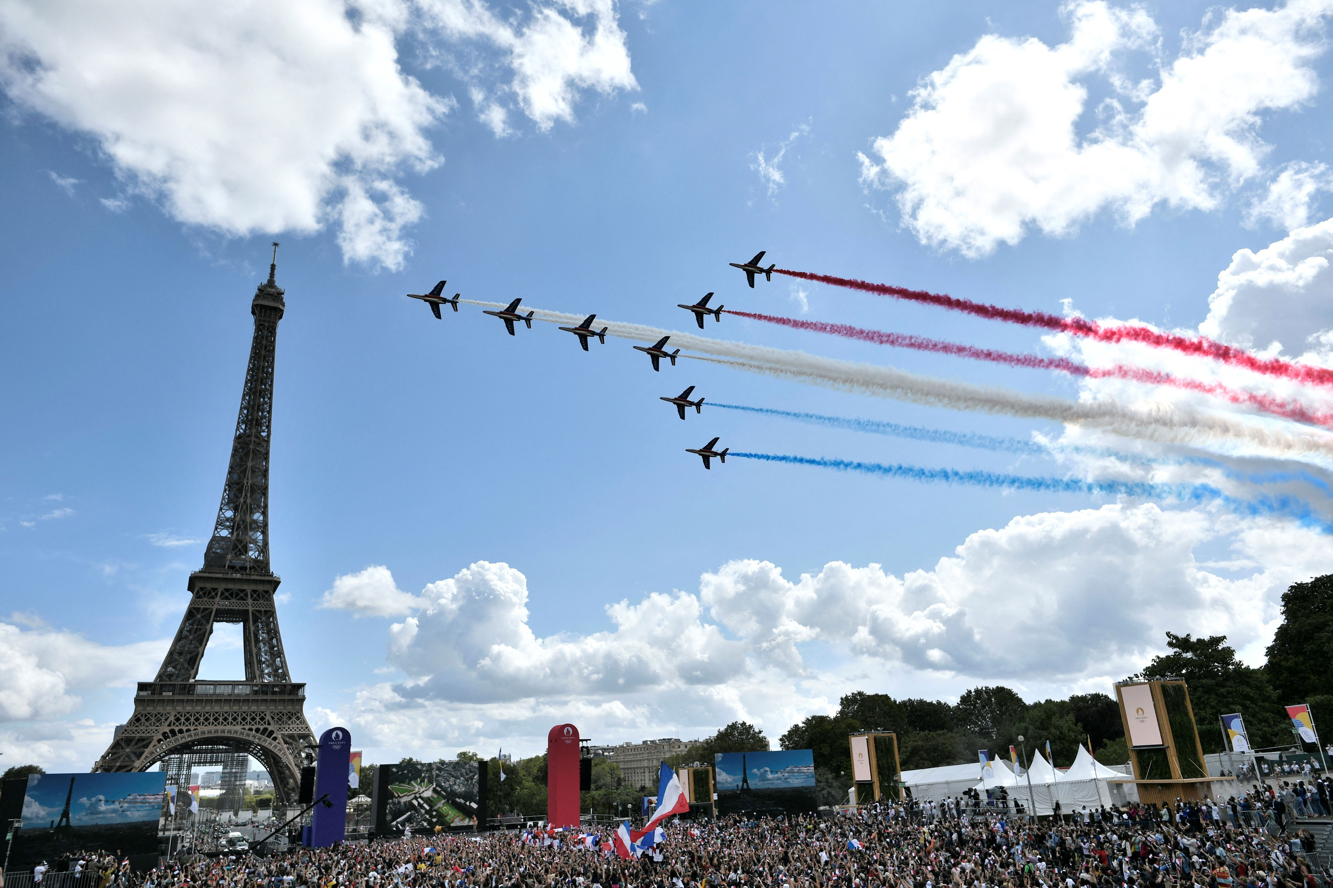
[[[1170,652],[1153,658],[1138,678],[1184,679],[1204,752],[1224,751],[1221,716],[1226,712],[1244,716],[1256,748],[1290,744],[1292,732],[1268,676],[1236,659],[1225,635],[1196,639],[1166,632],[1166,647]]]

